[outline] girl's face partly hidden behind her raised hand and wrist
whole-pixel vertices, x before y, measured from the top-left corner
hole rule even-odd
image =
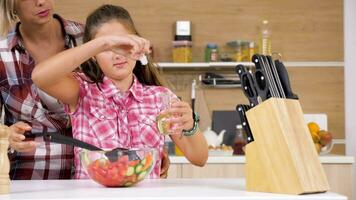
[[[102,36],[121,36],[131,34],[120,22],[112,20],[101,25],[94,38]],[[121,81],[132,77],[136,60],[113,51],[104,51],[95,56],[101,70],[108,78]]]

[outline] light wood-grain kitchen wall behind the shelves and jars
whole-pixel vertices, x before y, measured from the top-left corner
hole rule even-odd
[[[284,61],[343,61],[342,0],[61,0],[56,1],[56,10],[84,22],[103,3],[122,5],[131,12],[140,33],[151,40],[158,62],[171,61],[176,20],[192,21],[193,60],[202,61],[207,42],[222,46],[230,40],[257,40],[263,19],[271,25],[273,51],[282,53]],[[232,73],[231,69],[209,70]],[[328,114],[329,130],[335,138],[344,139],[344,68],[307,66],[288,71],[304,112]],[[192,78],[205,71],[180,68],[163,72],[172,88],[188,99]],[[233,110],[237,103],[246,102],[240,89],[204,89],[210,112]],[[334,152],[344,154],[344,145],[335,146]]]

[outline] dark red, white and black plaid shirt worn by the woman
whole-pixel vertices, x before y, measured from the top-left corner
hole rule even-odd
[[[81,43],[83,26],[54,15],[61,22],[65,46]],[[58,100],[39,90],[32,82],[35,62],[25,50],[19,23],[5,39],[0,40],[0,109],[4,109],[4,123],[12,125],[24,121],[32,132],[60,132],[71,135],[69,116]],[[43,142],[34,152],[10,153],[11,179],[68,179],[72,175],[73,148]]]

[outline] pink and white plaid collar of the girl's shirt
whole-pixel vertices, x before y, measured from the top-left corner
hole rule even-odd
[[[103,95],[106,98],[113,97],[117,94],[122,95],[122,92],[106,76],[104,76],[103,82],[100,83],[99,85],[103,91]],[[135,75],[133,75],[133,83],[127,92],[131,93],[134,99],[137,100],[138,102],[143,101],[143,85],[140,83],[140,81],[136,78]]]

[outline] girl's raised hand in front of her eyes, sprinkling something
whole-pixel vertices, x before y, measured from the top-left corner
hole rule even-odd
[[[134,60],[143,54],[150,53],[150,42],[136,35],[104,36],[104,51],[113,51]]]

